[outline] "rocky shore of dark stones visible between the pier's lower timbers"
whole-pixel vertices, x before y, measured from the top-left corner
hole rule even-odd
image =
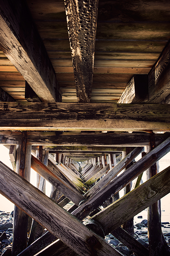
[[[148,248],[148,222],[145,219],[147,211],[142,212],[134,217],[134,237],[146,248]],[[165,240],[170,246],[170,222],[162,222],[162,232]],[[126,246],[124,246],[113,235],[106,235],[105,240],[110,243],[116,250],[120,251],[125,256],[134,256]],[[0,255],[10,256],[13,241],[13,211],[0,211]]]

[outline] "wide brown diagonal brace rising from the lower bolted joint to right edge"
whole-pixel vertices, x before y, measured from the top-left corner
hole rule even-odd
[[[170,167],[92,217],[106,234],[170,193]],[[113,216],[116,215],[116,218]]]

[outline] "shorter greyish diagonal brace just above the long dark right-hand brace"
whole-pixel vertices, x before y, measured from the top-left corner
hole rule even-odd
[[[100,181],[98,181],[87,193],[84,195],[85,198],[92,197],[100,189],[106,186],[118,173],[120,173],[130,162],[138,156],[138,154],[143,151],[143,147],[136,147],[130,152],[126,157],[124,157],[121,162],[119,162],[114,168],[110,170]]]

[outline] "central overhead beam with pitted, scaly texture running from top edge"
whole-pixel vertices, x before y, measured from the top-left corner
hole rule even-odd
[[[65,0],[78,102],[91,102],[98,0]]]

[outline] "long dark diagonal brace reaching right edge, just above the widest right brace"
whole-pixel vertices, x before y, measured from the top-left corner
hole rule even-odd
[[[115,180],[111,181],[107,186],[103,187],[98,193],[79,206],[72,214],[78,219],[82,220],[84,215],[90,214],[92,211],[97,209],[102,202],[106,201],[111,195],[116,194],[126,184],[135,179],[144,172],[151,165],[157,162],[161,157],[165,156],[170,151],[170,138],[166,139],[163,143],[149,152],[146,156],[142,157],[138,162],[129,167],[126,172],[119,175]],[[156,157],[156,158],[154,158]],[[116,165],[118,166],[118,165]],[[87,192],[88,193],[88,192]],[[86,215],[87,216],[87,215]]]

